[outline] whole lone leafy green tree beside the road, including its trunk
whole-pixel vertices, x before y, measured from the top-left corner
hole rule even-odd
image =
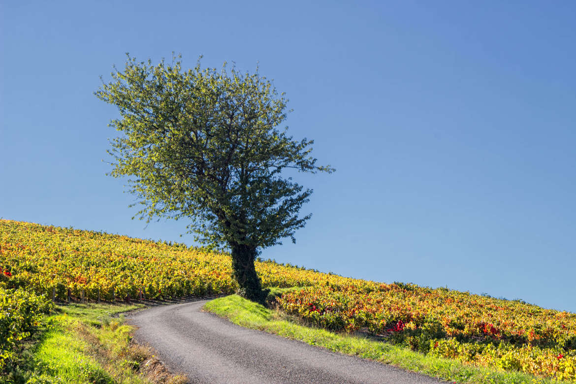
[[[232,256],[238,293],[253,301],[266,297],[254,262],[260,251],[282,244],[304,227],[299,216],[312,189],[285,177],[287,169],[333,172],[317,166],[313,140],[293,140],[284,94],[266,77],[221,71],[182,70],[181,56],[114,67],[112,82],[96,96],[116,105],[120,119],[109,126],[123,135],[111,139],[113,177],[131,177],[146,219],[187,218],[196,241]],[[135,205],[135,204],[133,204]]]

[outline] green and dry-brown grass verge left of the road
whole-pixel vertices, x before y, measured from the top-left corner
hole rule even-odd
[[[58,306],[47,329],[25,351],[20,370],[6,383],[185,383],[170,374],[146,347],[131,342],[123,315],[143,305]]]

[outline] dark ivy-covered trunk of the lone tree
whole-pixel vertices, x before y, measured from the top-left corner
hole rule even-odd
[[[263,290],[256,275],[254,261],[256,248],[247,245],[231,245],[233,277],[238,282],[237,294],[248,300],[264,303],[270,290]]]

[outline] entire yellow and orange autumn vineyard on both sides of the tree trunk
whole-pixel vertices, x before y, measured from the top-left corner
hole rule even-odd
[[[3,292],[26,290],[63,302],[236,290],[226,254],[10,220],[0,220],[0,269]],[[576,380],[576,314],[445,288],[350,279],[271,261],[257,262],[256,270],[263,286],[306,287],[284,294],[277,305],[310,324],[370,334],[464,363]],[[26,300],[37,301],[37,296]]]

